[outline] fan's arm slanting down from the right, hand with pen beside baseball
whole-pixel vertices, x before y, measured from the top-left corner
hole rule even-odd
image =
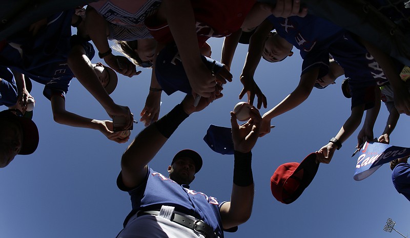
[[[315,85],[318,75],[318,68],[312,69],[302,74],[296,89],[286,98],[284,98],[281,102],[279,102],[279,104],[273,107],[273,109],[271,109],[262,116],[263,119],[259,136],[262,137],[271,132],[270,126],[272,118],[294,109],[296,106],[300,105],[304,100],[306,100],[309,97]]]

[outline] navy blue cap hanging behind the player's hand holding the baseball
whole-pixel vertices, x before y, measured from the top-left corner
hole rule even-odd
[[[203,140],[216,153],[222,155],[234,154],[234,142],[232,141],[232,129],[230,127],[211,124]]]

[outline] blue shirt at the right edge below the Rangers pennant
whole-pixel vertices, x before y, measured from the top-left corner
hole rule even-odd
[[[396,190],[410,201],[410,165],[400,163],[392,172],[392,181]]]

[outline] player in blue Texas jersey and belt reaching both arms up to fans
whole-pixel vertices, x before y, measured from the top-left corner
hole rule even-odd
[[[240,126],[231,112],[235,164],[230,202],[221,203],[189,187],[202,165],[201,157],[193,150],[176,154],[168,167],[169,177],[147,165],[178,125],[211,101],[201,98],[195,107],[192,96],[186,96],[171,112],[146,127],[128,147],[121,159],[117,184],[129,192],[132,212],[117,237],[223,237],[223,230],[249,219],[254,194],[251,149],[261,121],[255,107],[251,110],[252,119]]]

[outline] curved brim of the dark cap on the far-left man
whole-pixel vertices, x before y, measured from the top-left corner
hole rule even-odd
[[[35,152],[38,146],[38,128],[34,121],[24,118],[16,117],[18,123],[22,126],[23,129],[23,144],[20,149],[19,155],[30,155]]]

